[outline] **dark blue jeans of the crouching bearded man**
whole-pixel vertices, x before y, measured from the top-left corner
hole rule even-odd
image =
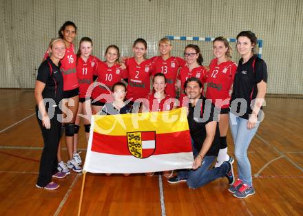
[[[193,147],[194,157],[198,155],[198,151]],[[209,182],[216,180],[219,177],[224,177],[229,169],[227,162],[224,162],[220,167],[209,169],[216,156],[205,156],[201,166],[196,170],[182,170],[177,173],[178,177],[187,179],[189,188],[198,188]]]

